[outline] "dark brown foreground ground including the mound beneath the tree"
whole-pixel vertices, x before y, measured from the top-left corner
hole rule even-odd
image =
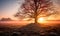
[[[0,36],[60,36],[60,25],[41,27],[30,23],[20,28],[0,27]]]

